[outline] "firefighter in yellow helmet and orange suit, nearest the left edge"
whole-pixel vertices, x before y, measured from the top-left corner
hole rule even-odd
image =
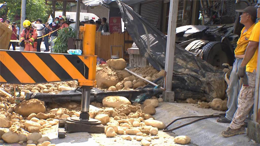
[[[21,33],[22,45],[24,44],[24,51],[37,51],[37,29],[32,27],[29,20],[24,20],[23,31]],[[23,47],[23,46],[22,46]]]

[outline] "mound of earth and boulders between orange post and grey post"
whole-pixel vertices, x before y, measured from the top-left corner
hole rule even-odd
[[[97,87],[108,89],[108,91],[134,90],[147,84],[146,81],[131,75],[124,70],[126,61],[124,59],[109,59],[106,64],[98,65],[96,68]],[[148,81],[153,81],[160,76],[164,76],[164,70],[158,72],[150,66],[145,67],[147,74],[140,74]],[[138,72],[138,70],[133,70]],[[148,76],[149,75],[149,76]]]

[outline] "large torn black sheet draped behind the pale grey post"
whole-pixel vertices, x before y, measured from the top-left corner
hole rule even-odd
[[[133,11],[131,7],[116,0],[123,22],[140,53],[157,70],[165,65],[167,37]],[[148,40],[147,40],[148,38]],[[226,85],[224,73],[175,45],[172,90],[175,99],[224,98]]]

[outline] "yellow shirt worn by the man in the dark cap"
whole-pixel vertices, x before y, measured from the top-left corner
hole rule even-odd
[[[244,32],[245,27],[241,30],[241,35],[237,41],[237,47],[235,49],[235,55],[243,55],[245,54],[245,49],[249,43],[249,37],[254,28],[255,24],[253,24],[246,32]]]

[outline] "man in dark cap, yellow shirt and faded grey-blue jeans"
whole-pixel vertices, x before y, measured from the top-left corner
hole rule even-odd
[[[242,81],[237,76],[237,70],[244,58],[245,49],[249,43],[248,39],[256,22],[256,8],[253,6],[248,6],[244,10],[237,11],[243,12],[243,14],[240,16],[240,23],[245,27],[241,30],[241,35],[237,41],[237,47],[235,49],[236,60],[233,64],[233,69],[229,78],[230,82],[228,89],[226,90],[228,96],[228,110],[226,111],[225,117],[217,119],[217,122],[220,123],[230,123],[237,110],[237,96],[242,87]]]

